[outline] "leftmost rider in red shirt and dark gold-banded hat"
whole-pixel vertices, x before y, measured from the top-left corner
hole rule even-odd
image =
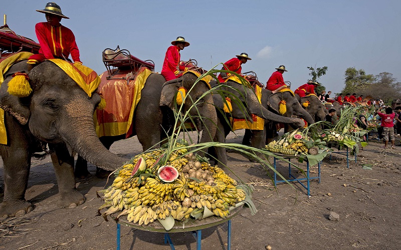
[[[70,54],[74,63],[82,64],[74,33],[60,24],[62,18],[69,19],[61,12],[60,6],[54,2],[48,2],[45,9],[36,11],[45,13],[47,22],[39,22],[35,25],[36,36],[41,48],[39,54],[31,55],[28,58],[28,69],[32,69],[45,59],[60,58],[70,61],[68,59]]]

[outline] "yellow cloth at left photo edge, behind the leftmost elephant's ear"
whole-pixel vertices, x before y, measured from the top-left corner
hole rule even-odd
[[[9,55],[4,59],[0,59],[0,85],[3,83],[4,74],[9,71],[10,67],[22,60],[27,60],[33,53],[30,52],[18,52],[13,55]],[[0,144],[7,145],[7,131],[6,124],[4,121],[4,109],[0,108]]]

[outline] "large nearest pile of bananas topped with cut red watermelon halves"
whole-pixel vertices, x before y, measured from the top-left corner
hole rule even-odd
[[[246,191],[223,169],[182,146],[177,144],[168,159],[167,150],[159,148],[123,165],[112,185],[98,191],[104,193],[105,202],[99,213],[109,207],[102,214],[106,220],[107,215],[122,211],[117,218],[127,215],[129,222],[139,225],[169,216],[186,220],[205,207],[226,218],[230,207],[246,198]]]

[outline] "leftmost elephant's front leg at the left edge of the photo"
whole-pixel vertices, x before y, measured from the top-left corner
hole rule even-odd
[[[25,200],[28,186],[31,155],[26,148],[2,148],[4,162],[4,197],[0,204],[0,216],[18,217],[33,210],[30,202]]]

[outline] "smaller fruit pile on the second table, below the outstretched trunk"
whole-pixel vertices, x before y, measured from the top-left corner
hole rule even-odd
[[[306,141],[309,141],[310,137],[303,135],[298,129],[284,135],[283,138],[278,141],[274,140],[267,144],[265,147],[267,150],[274,153],[282,153],[287,155],[297,155],[298,153],[307,154],[309,148],[306,145]]]

